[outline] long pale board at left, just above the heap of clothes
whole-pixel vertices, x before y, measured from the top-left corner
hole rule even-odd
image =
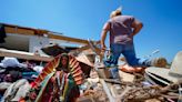
[[[34,53],[29,53],[29,52],[23,52],[23,51],[14,51],[14,50],[6,50],[6,49],[0,49],[0,57],[14,57],[18,59],[46,61],[46,62],[53,60],[53,58],[48,57],[48,55],[38,55]]]

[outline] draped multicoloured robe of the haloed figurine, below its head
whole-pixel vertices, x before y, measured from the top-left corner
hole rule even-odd
[[[74,84],[73,79],[68,76],[63,71],[50,73],[41,83],[41,90],[36,99],[36,102],[68,102],[70,90]]]

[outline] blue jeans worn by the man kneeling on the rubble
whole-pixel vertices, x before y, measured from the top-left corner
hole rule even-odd
[[[111,57],[110,59],[104,60],[105,65],[118,64],[118,59],[120,54],[123,54],[128,64],[131,67],[149,67],[150,61],[148,59],[139,59],[135,57],[134,45],[130,44],[111,44]]]

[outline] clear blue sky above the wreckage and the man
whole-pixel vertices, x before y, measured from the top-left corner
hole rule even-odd
[[[139,58],[159,50],[153,57],[171,62],[182,51],[182,0],[0,0],[0,22],[98,41],[120,6],[143,23],[134,37]]]

